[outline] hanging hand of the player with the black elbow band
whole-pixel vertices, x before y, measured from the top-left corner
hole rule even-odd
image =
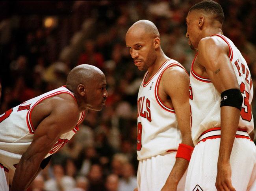
[[[236,191],[231,182],[230,163],[218,165],[218,173],[215,186],[218,191]]]

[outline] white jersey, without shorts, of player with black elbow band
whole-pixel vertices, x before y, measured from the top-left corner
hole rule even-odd
[[[243,95],[243,105],[238,127],[246,129],[247,132],[250,133],[254,129],[252,110],[250,107],[253,97],[253,87],[248,65],[240,51],[230,39],[219,34],[212,36],[217,36],[217,38],[221,38],[228,44],[228,56]],[[195,58],[196,57],[197,55],[195,55]],[[194,144],[197,144],[198,137],[204,131],[213,127],[221,127],[221,95],[217,89],[215,89],[210,78],[204,78],[195,73],[193,69],[195,58],[191,64],[189,76],[191,85],[190,93],[192,93],[189,103],[192,113],[192,139]]]

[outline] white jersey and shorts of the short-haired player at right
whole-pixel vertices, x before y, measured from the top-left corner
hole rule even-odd
[[[236,190],[243,191],[250,188],[256,176],[256,147],[248,135],[254,129],[250,107],[253,97],[252,79],[245,59],[233,42],[223,35],[213,36],[221,38],[228,44],[228,56],[243,95],[239,126],[230,157],[232,185]],[[221,95],[209,78],[195,73],[193,69],[195,58],[190,71],[192,96],[189,102],[192,113],[192,139],[196,146],[188,167],[186,190],[212,191],[216,190],[221,133]]]

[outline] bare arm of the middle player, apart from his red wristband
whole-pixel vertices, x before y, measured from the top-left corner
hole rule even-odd
[[[165,104],[171,105],[175,110],[178,127],[182,135],[182,144],[194,147],[190,128],[189,76],[181,67],[173,66],[163,73],[160,88]],[[188,160],[177,157],[174,167],[161,190],[176,190],[188,164]]]

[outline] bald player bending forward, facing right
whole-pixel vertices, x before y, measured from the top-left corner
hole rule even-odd
[[[95,66],[78,65],[67,85],[0,115],[0,191],[25,191],[35,176],[79,130],[89,109],[100,111],[108,92]]]

